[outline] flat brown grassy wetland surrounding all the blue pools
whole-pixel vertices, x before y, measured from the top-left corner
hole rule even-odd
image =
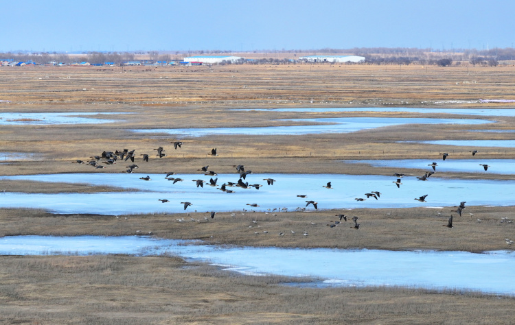
[[[349,134],[299,136],[204,136],[181,139],[144,134],[146,128],[218,128],[303,125],[279,119],[315,117],[443,117],[442,114],[369,112],[263,112],[237,108],[424,107],[514,108],[510,103],[478,99],[515,99],[515,67],[420,67],[361,65],[260,65],[216,67],[0,67],[1,112],[130,112],[104,115],[116,123],[82,125],[1,125],[0,152],[40,154],[38,160],[5,160],[0,175],[34,173],[121,173],[126,164],[94,169],[76,163],[124,148],[151,154],[141,173],[193,173],[210,165],[218,173],[245,165],[258,173],[356,173],[393,175],[402,169],[343,164],[344,159],[471,158],[475,147],[423,145],[398,141],[440,139],[515,139],[513,117],[484,118],[483,125],[399,125]],[[449,115],[459,119],[482,117]],[[157,147],[167,156],[157,158]],[[207,154],[218,148],[217,157]],[[513,148],[486,147],[474,156],[515,158]],[[479,164],[479,163],[478,163]],[[424,173],[410,171],[410,173]],[[439,177],[514,176],[445,173]],[[392,176],[393,178],[393,176]],[[113,184],[115,186],[115,184]],[[119,191],[109,186],[47,184],[0,180],[7,192],[62,193]],[[478,189],[479,191],[481,189]],[[0,200],[2,199],[0,193]],[[459,202],[457,202],[458,204]],[[510,204],[510,202],[507,202]],[[514,205],[512,202],[511,205]],[[512,207],[471,206],[442,227],[453,207],[358,209],[362,227],[349,222],[330,228],[345,210],[314,212],[205,213],[186,215],[53,215],[41,210],[1,209],[0,235],[122,235],[152,231],[154,236],[204,239],[212,243],[386,250],[512,250]],[[473,212],[473,216],[468,212]],[[442,214],[439,215],[438,212]],[[238,213],[231,217],[230,213]],[[347,214],[347,213],[345,213]],[[125,217],[127,219],[125,219]],[[177,222],[182,217],[201,221]],[[480,219],[479,222],[477,219]],[[273,236],[255,235],[252,220]],[[312,225],[313,222],[315,225]],[[351,221],[352,222],[352,221]],[[297,234],[285,235],[294,230]],[[267,324],[346,323],[509,324],[513,298],[477,293],[406,288],[314,289],[280,285],[292,279],[255,278],[221,272],[209,265],[159,256],[3,256],[0,263],[0,322],[106,324]],[[352,273],[352,270],[343,270]],[[507,279],[509,280],[509,279]],[[302,279],[297,279],[302,281]]]

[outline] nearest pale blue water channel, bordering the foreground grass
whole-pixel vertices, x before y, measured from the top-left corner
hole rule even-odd
[[[188,242],[130,236],[16,236],[0,238],[0,254],[168,253],[187,259],[209,261],[243,274],[312,276],[322,278],[325,284],[330,285],[457,288],[515,294],[515,282],[509,280],[515,275],[515,256],[510,252],[473,254],[327,248],[220,248],[185,243]]]

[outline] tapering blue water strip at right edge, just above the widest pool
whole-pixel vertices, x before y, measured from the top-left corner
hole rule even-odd
[[[472,154],[471,154],[472,155]],[[476,154],[477,159],[453,159],[448,156],[446,160],[428,159],[402,159],[402,160],[342,160],[343,163],[363,163],[373,167],[396,167],[433,170],[431,163],[437,163],[437,172],[453,171],[458,173],[515,173],[515,159],[483,159],[481,152]],[[489,165],[488,171],[479,164]]]

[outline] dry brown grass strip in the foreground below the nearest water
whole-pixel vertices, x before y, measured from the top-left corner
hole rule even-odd
[[[515,305],[460,291],[287,287],[170,257],[0,260],[4,324],[509,324]]]

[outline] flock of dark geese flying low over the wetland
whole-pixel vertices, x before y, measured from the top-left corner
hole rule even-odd
[[[184,144],[181,141],[172,141],[171,143],[173,143],[174,149],[181,148],[181,145]],[[158,148],[153,149],[153,150],[155,150],[157,152],[156,156],[159,157],[159,158],[163,158],[164,156],[166,156],[166,154],[164,153],[165,149],[163,149],[163,147],[158,147]],[[471,153],[472,153],[472,156],[475,156],[475,154],[477,154],[478,151],[477,150],[473,150],[473,151],[471,151]],[[216,148],[211,149],[211,152],[209,154],[207,154],[207,155],[218,156],[217,149]],[[446,158],[449,156],[448,153],[443,153],[441,155],[442,155],[443,160],[446,160]],[[141,161],[142,162],[147,162],[148,163],[149,156],[150,156],[149,154],[140,154],[139,156],[141,156]],[[91,166],[93,166],[93,167],[95,167],[97,169],[102,169],[102,168],[106,167],[104,165],[114,165],[115,163],[117,163],[117,161],[127,162],[128,160],[130,160],[130,163],[132,163],[132,164],[126,166],[127,169],[126,169],[125,172],[126,173],[133,173],[134,169],[139,168],[137,165],[134,164],[136,157],[137,157],[137,155],[135,154],[135,150],[130,150],[129,151],[128,149],[123,149],[122,151],[116,150],[115,152],[105,152],[104,151],[104,152],[102,152],[102,154],[100,154],[100,156],[91,156],[90,158],[93,158],[93,159],[89,160],[87,163],[84,163],[84,161],[82,161],[82,160],[76,160],[76,161],[73,161],[72,163],[87,164],[87,165],[91,165]],[[104,165],[101,165],[101,164],[104,164]],[[479,165],[483,166],[483,169],[485,169],[485,171],[488,169],[488,167],[490,167],[488,165],[483,165],[483,164],[479,164]],[[433,173],[436,172],[436,167],[438,165],[437,165],[437,163],[433,162],[433,163],[429,164],[428,166],[431,166],[433,168],[433,171],[428,171],[428,172],[424,173],[423,176],[418,176],[417,177],[418,180],[422,180],[422,181],[428,180],[428,178],[431,175],[433,175]],[[223,183],[222,185],[220,185],[220,187],[217,187],[216,189],[218,189],[220,191],[224,191],[225,193],[234,193],[233,190],[227,189],[227,187],[237,186],[237,187],[240,187],[242,189],[254,188],[254,189],[259,190],[260,187],[263,186],[262,184],[249,184],[249,182],[244,182],[243,181],[243,180],[246,179],[247,175],[252,173],[252,171],[250,171],[250,170],[245,170],[245,166],[244,165],[233,165],[233,167],[236,168],[236,172],[239,173],[239,175],[240,175],[240,179],[238,180],[238,182]],[[211,178],[209,179],[209,182],[206,182],[204,180],[192,180],[193,182],[195,182],[196,187],[203,187],[204,184],[207,184],[209,186],[214,186],[214,187],[219,186],[217,184],[218,178],[212,178],[212,176],[217,176],[218,174],[215,171],[209,170],[209,165],[204,166],[201,169],[197,169],[197,171],[202,171],[205,176],[211,176]],[[182,182],[183,181],[182,178],[170,177],[170,176],[173,176],[173,175],[176,175],[176,173],[168,172],[168,173],[166,173],[165,179],[172,181],[172,184],[175,184],[176,182]],[[400,188],[400,185],[402,185],[401,178],[406,176],[406,175],[403,174],[403,173],[395,173],[395,176],[397,177],[397,180],[393,181],[393,183],[395,183],[396,186],[398,188]],[[150,181],[151,180],[150,176],[141,177],[139,179],[140,180],[146,180],[146,181]],[[275,180],[273,178],[264,178],[263,180],[266,180],[268,185],[273,185],[273,183],[275,182]],[[334,189],[332,187],[332,185],[331,185],[331,182],[328,182],[327,184],[323,185],[323,187],[325,187],[326,189]],[[381,193],[378,192],[378,191],[371,191],[370,193],[365,193],[365,196],[367,197],[367,199],[369,199],[370,197],[373,197],[374,199],[378,200],[380,195],[381,195]],[[417,200],[419,202],[427,202],[426,201],[426,197],[427,196],[428,195],[426,194],[426,195],[422,195],[420,197],[415,197],[414,200]],[[306,198],[307,195],[297,195],[297,197]],[[363,197],[356,197],[354,200],[356,200],[356,201],[365,201],[367,199],[365,199]],[[167,199],[159,199],[159,201],[162,202],[162,203],[170,202],[170,200],[167,200]],[[186,210],[189,206],[193,205],[192,202],[181,202],[181,204],[183,204],[184,210]],[[318,202],[315,202],[313,200],[306,200],[306,206],[304,208],[297,208],[297,210],[305,210],[306,207],[308,207],[310,204],[312,204],[312,206],[313,206],[313,208],[315,210],[318,210]],[[451,210],[451,212],[455,212],[459,216],[461,216],[462,210],[464,210],[466,208],[465,204],[466,204],[466,202],[460,202],[459,206],[455,206],[456,210]],[[251,207],[258,207],[259,206],[256,203],[249,203],[247,205],[251,206]],[[245,209],[243,209],[243,210],[245,210]],[[268,209],[268,210],[270,210],[270,209]],[[277,209],[273,209],[273,210],[277,210]],[[282,208],[282,209],[279,208],[278,210],[285,211],[287,209],[286,208]],[[216,212],[211,212],[210,215],[211,215],[211,218],[214,218],[215,215],[216,215]],[[472,215],[472,213],[470,213],[470,215]],[[339,217],[339,221],[331,221],[333,224],[328,224],[327,226],[330,226],[331,228],[333,228],[333,227],[339,226],[339,224],[341,223],[342,220],[347,221],[347,216],[346,215],[336,215],[336,217]],[[358,222],[357,222],[358,221],[358,217],[356,217],[356,216],[352,217],[352,221],[354,221],[354,226],[352,226],[351,228],[359,229],[360,224],[358,224]],[[478,221],[481,222],[479,219],[478,219]],[[450,218],[448,219],[448,224],[442,225],[442,226],[446,226],[448,228],[454,228],[452,213],[450,215]]]

